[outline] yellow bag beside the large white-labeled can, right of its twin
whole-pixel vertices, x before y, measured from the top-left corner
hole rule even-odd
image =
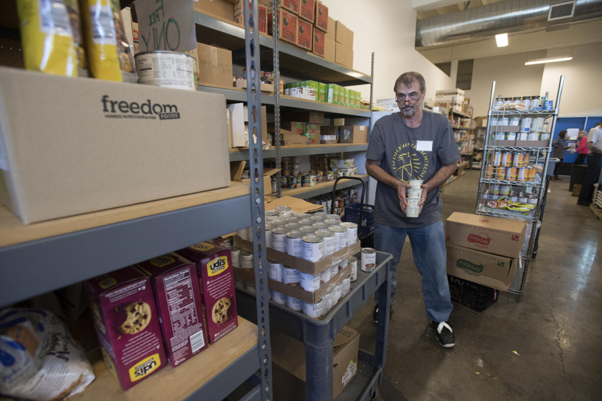
[[[122,71],[134,72],[123,30],[119,0],[79,0],[85,51],[94,78],[123,81]]]

